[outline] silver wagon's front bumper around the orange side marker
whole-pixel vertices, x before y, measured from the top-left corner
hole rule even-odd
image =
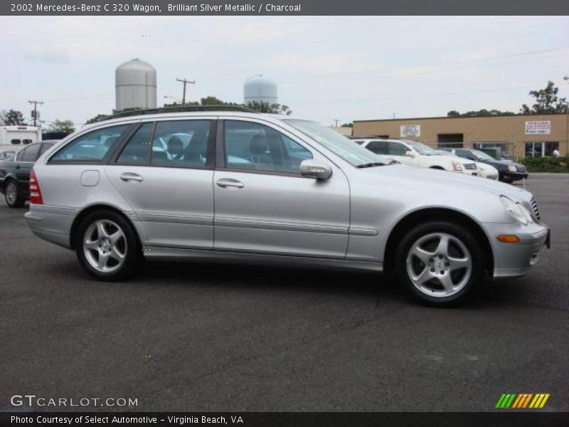
[[[549,228],[541,224],[485,224],[494,253],[494,278],[514,278],[528,273],[539,262],[543,246],[549,247]],[[519,243],[504,243],[496,236],[515,234]]]

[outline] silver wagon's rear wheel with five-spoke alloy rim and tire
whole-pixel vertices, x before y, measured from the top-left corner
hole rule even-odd
[[[112,211],[96,211],[81,221],[75,251],[83,268],[99,280],[127,278],[142,261],[136,231]]]

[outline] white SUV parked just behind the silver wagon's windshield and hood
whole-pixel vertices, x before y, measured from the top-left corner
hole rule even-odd
[[[360,141],[362,141],[359,144]],[[459,172],[466,175],[477,176],[476,164],[464,161],[454,156],[441,156],[431,147],[422,142],[405,139],[357,139],[355,141],[375,154],[381,154],[409,166],[425,167],[430,169],[444,169],[445,171]]]

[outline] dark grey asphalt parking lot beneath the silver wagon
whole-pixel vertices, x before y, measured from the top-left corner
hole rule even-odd
[[[100,283],[2,199],[0,409],[36,394],[139,411],[492,411],[528,392],[569,411],[569,176],[527,188],[551,250],[453,309],[371,273],[151,263]]]

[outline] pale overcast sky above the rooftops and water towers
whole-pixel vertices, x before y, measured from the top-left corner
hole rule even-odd
[[[115,107],[115,68],[154,65],[158,102],[242,102],[243,83],[275,80],[294,116],[352,120],[518,112],[553,80],[569,97],[569,16],[1,17],[0,110],[87,119]]]

